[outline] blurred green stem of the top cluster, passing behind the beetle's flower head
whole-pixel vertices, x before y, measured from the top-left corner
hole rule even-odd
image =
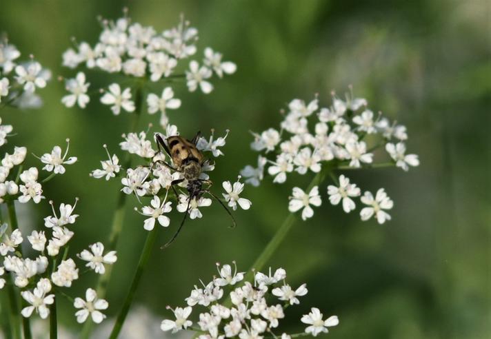
[[[135,107],[137,107],[137,110],[135,110],[134,114],[132,114],[132,119],[130,121],[130,126],[129,126],[130,132],[134,132],[137,130],[139,117],[143,112],[143,85],[139,85],[139,87],[137,88],[137,92],[135,93]],[[126,154],[123,164],[124,164],[124,168],[131,167],[131,154],[129,153]],[[108,249],[113,250],[117,248],[119,234],[121,234],[121,229],[123,229],[127,196],[128,194],[122,191],[119,192],[117,198],[118,200],[116,203],[116,209],[114,210],[114,214],[112,215],[112,224],[109,234],[109,244],[107,246]],[[99,276],[99,280],[97,281],[97,288],[96,288],[98,298],[104,298],[104,296],[106,296],[106,291],[108,289],[108,283],[111,278],[111,274],[112,274],[112,265],[109,265],[106,268],[106,273]],[[80,338],[88,339],[90,337],[90,332],[92,331],[92,326],[93,326],[92,322],[86,321],[86,323],[83,325]]]

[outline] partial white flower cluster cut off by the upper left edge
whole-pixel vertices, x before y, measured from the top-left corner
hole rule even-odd
[[[41,98],[35,93],[37,88],[45,88],[51,79],[51,72],[41,66],[31,56],[28,61],[19,59],[21,52],[0,40],[0,104],[21,108],[41,106]]]

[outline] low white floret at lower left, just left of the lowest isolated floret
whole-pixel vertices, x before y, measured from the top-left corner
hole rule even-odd
[[[51,291],[51,283],[50,280],[46,278],[41,278],[39,280],[33,292],[21,291],[22,298],[31,305],[22,309],[22,316],[24,318],[29,318],[35,309],[42,319],[48,318],[50,309],[46,305],[51,305],[54,302],[54,294],[46,295],[49,291]]]

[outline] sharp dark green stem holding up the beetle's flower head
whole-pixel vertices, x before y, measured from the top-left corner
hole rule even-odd
[[[152,248],[155,243],[155,239],[157,239],[157,230],[159,226],[157,225],[150,231],[145,241],[145,245],[143,246],[143,251],[141,252],[140,260],[138,262],[137,271],[134,273],[133,281],[131,283],[130,291],[128,291],[128,295],[124,300],[123,307],[121,311],[119,311],[118,317],[116,319],[116,323],[112,328],[110,339],[116,339],[119,336],[119,332],[121,331],[121,327],[123,327],[123,322],[128,315],[128,311],[130,310],[131,303],[134,298],[134,294],[137,291],[138,285],[140,283],[141,275],[145,270],[145,267],[148,263],[148,259],[150,259],[150,254],[152,254]]]

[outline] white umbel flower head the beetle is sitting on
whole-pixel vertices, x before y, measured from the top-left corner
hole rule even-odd
[[[223,201],[220,201],[219,196],[211,192],[213,186],[208,173],[214,170],[214,163],[210,159],[224,155],[221,149],[226,145],[228,131],[225,136],[218,138],[214,137],[212,131],[208,139],[199,134],[189,141],[184,138],[175,138],[179,136],[177,126],[166,126],[166,135],[157,133],[156,136],[163,143],[168,143],[167,140],[174,138],[172,143],[166,145],[168,148],[172,148],[175,143],[183,143],[179,146],[183,147],[179,151],[179,156],[167,154],[159,144],[149,140],[147,134],[148,132],[125,134],[123,135],[124,141],[119,144],[121,150],[139,158],[137,162],[139,165],[121,170],[118,165],[118,156],[116,154],[111,156],[105,145],[109,160],[101,161],[103,168],[94,170],[91,174],[94,178],[106,178],[106,180],[121,177],[121,191],[135,196],[141,205],[141,208],[134,207],[134,209],[145,217],[143,229],[151,231],[159,225],[166,228],[172,226],[174,210],[188,214],[190,219],[203,218],[203,214],[206,214],[206,207],[212,205],[213,201],[218,201],[222,207],[225,207],[228,214],[230,214],[228,207],[233,210],[236,210],[237,207],[241,209],[251,207],[252,202],[243,197],[244,185],[240,182],[241,176],[238,176],[235,183],[223,182],[222,187],[225,190],[222,194]],[[186,176],[188,174],[181,166],[182,154],[192,156],[186,145],[191,145],[192,152],[199,153],[199,157],[202,158],[201,162],[197,162],[197,178],[194,179],[188,178]],[[186,219],[186,217],[183,218]],[[234,223],[234,220],[232,222]]]

